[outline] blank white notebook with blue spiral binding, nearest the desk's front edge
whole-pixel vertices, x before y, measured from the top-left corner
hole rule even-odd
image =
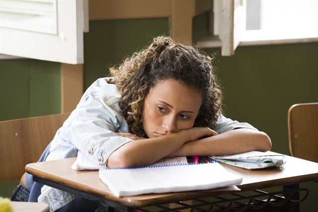
[[[240,185],[242,177],[217,162],[103,168],[99,178],[116,197],[207,190]]]

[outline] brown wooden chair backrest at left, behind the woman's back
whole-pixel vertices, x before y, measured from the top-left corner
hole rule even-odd
[[[0,122],[0,183],[20,180],[26,164],[38,161],[70,113]]]

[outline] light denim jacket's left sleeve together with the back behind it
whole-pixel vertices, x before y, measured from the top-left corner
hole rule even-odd
[[[53,139],[48,160],[74,157],[76,147],[91,160],[104,165],[113,151],[132,141],[116,134],[127,133],[129,128],[120,113],[121,96],[111,88],[115,90],[100,85],[86,90]]]

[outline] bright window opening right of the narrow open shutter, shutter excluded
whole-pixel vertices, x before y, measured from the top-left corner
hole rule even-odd
[[[318,0],[247,0],[245,45],[318,41]]]

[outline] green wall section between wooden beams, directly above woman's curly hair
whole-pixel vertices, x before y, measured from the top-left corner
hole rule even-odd
[[[84,34],[84,88],[168,31],[168,18],[90,21],[89,33]]]

